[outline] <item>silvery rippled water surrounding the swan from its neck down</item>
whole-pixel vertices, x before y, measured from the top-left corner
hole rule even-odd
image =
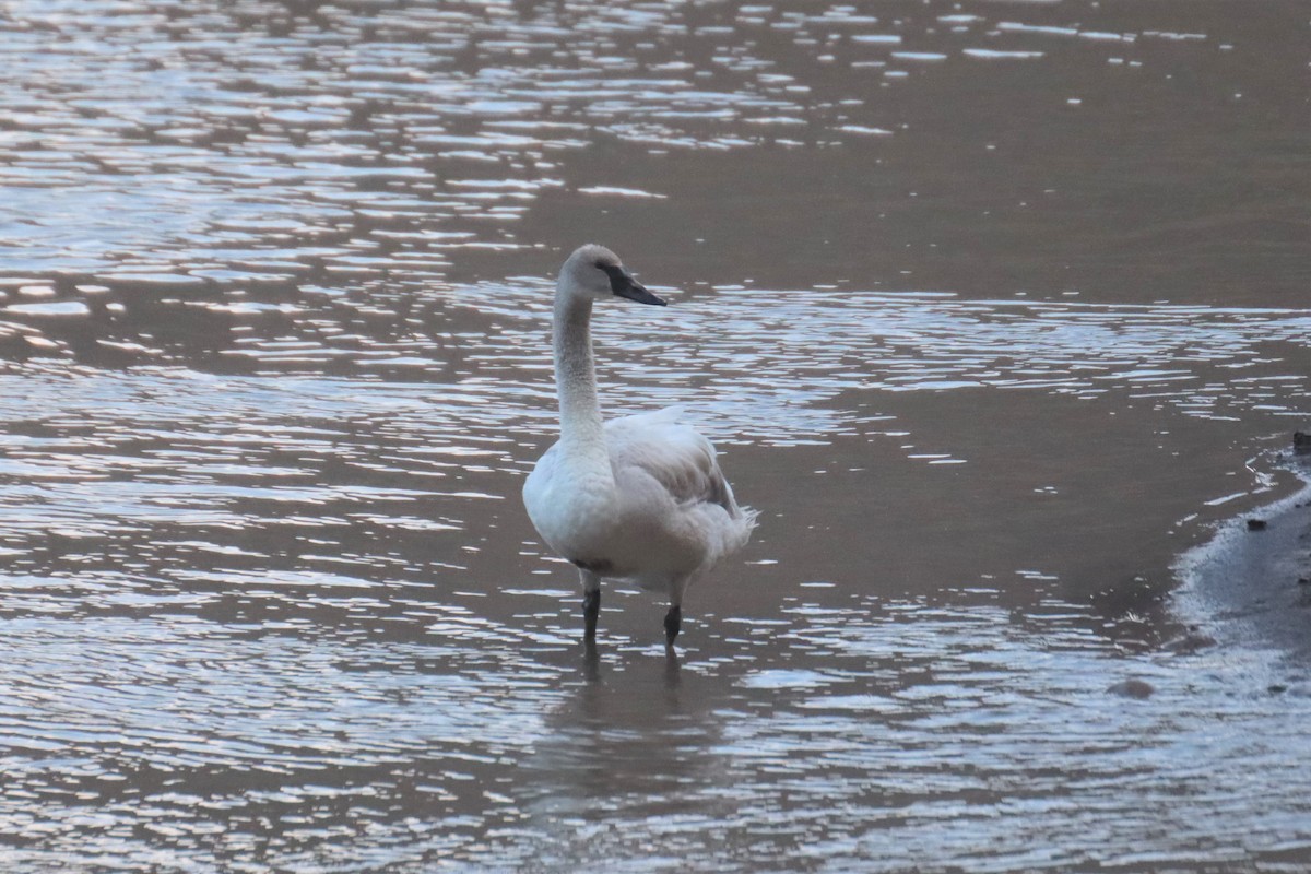
[[[741,618],[705,609],[680,668],[644,636],[652,605],[620,592],[590,671],[568,571],[528,583],[540,553],[517,501],[552,431],[545,294],[452,294],[498,329],[450,384],[50,359],[0,380],[10,866],[147,870],[166,850],[345,870],[1151,869],[1308,850],[1304,786],[1249,784],[1299,743],[1304,681],[1273,696],[1260,663],[1129,656],[1059,596],[935,604],[876,566],[779,611],[749,591],[775,569],[747,565],[703,601]],[[671,308],[658,335],[614,311],[607,381],[645,405],[676,390],[771,453],[901,434],[851,401],[885,392],[1203,421],[1304,404],[1266,356],[1304,346],[1297,312],[754,294]],[[948,446],[931,464],[978,461]],[[766,554],[785,549],[779,524]],[[1105,692],[1125,677],[1156,693]],[[1227,808],[1245,811],[1232,829]],[[1053,833],[1059,850],[1038,850]]]

